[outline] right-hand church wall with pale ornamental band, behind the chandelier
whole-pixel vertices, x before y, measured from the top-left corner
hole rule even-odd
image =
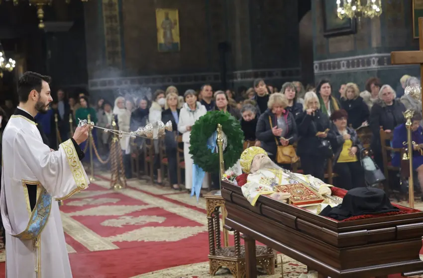
[[[412,0],[382,0],[378,18],[362,18],[357,33],[326,38],[323,35],[322,0],[312,1],[314,21],[314,72],[316,82],[329,78],[340,84],[356,82],[364,90],[372,76],[396,88],[403,74],[419,74],[418,66],[391,65],[391,51],[418,50],[413,38]],[[334,11],[335,13],[335,11]]]

